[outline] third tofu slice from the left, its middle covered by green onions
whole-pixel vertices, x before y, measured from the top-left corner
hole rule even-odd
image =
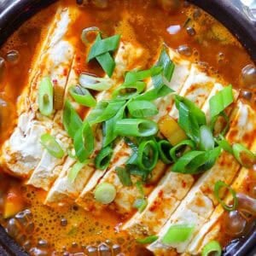
[[[139,68],[139,61],[137,61],[143,55],[144,49],[128,42],[122,42],[119,45],[118,52],[115,56],[116,67],[113,73],[113,87],[109,90],[102,91],[96,96],[97,102],[102,100],[108,100],[112,96],[112,91],[121,83],[121,78],[124,76],[125,71],[129,68]],[[90,113],[90,111],[89,111]],[[89,114],[87,113],[87,115]],[[94,125],[93,130],[96,134],[96,147],[95,152],[102,148],[102,131],[100,125]],[[95,153],[94,153],[95,154]],[[92,155],[92,158],[94,157]],[[93,164],[86,165],[79,172],[73,183],[68,180],[68,173],[71,172],[76,160],[71,160],[67,157],[60,176],[55,180],[53,187],[49,190],[49,194],[46,197],[46,204],[54,204],[59,201],[70,201],[79,196],[84,189],[85,183],[88,182],[90,176],[95,172],[95,166]],[[54,172],[58,172],[61,166],[57,166]]]

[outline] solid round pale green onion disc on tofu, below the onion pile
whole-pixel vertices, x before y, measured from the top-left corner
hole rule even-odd
[[[111,183],[99,183],[94,191],[96,201],[108,205],[114,201],[116,189]]]

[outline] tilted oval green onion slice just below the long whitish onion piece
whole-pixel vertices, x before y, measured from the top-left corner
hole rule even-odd
[[[92,108],[96,106],[96,99],[91,96],[90,91],[80,85],[70,87],[69,93],[76,102],[85,107]]]

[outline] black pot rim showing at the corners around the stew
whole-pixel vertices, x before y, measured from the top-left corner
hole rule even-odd
[[[0,1],[0,45],[29,17],[56,0],[2,0]],[[241,42],[256,63],[256,20],[250,20],[239,0],[189,0],[205,9],[222,22]],[[234,4],[236,3],[236,4]],[[256,255],[256,226],[248,235],[233,241],[225,250],[225,256]],[[0,226],[0,255],[27,255]]]

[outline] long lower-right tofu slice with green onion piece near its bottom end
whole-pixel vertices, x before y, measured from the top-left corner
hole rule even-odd
[[[256,113],[248,105],[242,102],[237,103],[237,108],[231,114],[230,131],[226,139],[230,143],[242,143],[249,147],[252,145],[251,138],[255,136],[256,127]],[[213,188],[218,181],[230,184],[236,176],[240,165],[236,159],[226,152],[223,152],[218,158],[215,166],[211,170],[205,172],[190,189],[188,195],[183,199],[177,210],[168,219],[164,227],[160,230],[158,241],[148,246],[148,249],[154,253],[165,252],[168,250],[166,245],[161,243],[161,237],[166,234],[166,231],[173,224],[183,223],[188,224],[187,219],[183,218],[185,212],[191,212],[193,218],[190,219],[189,224],[195,224],[195,230],[192,236],[183,243],[172,244],[169,248],[176,248],[177,253],[184,253],[187,251],[190,241],[192,241],[196,234],[201,230],[201,227],[206,223],[214,211],[214,207],[218,202],[214,198]],[[193,213],[193,214],[192,214]],[[200,221],[199,221],[200,220]]]

